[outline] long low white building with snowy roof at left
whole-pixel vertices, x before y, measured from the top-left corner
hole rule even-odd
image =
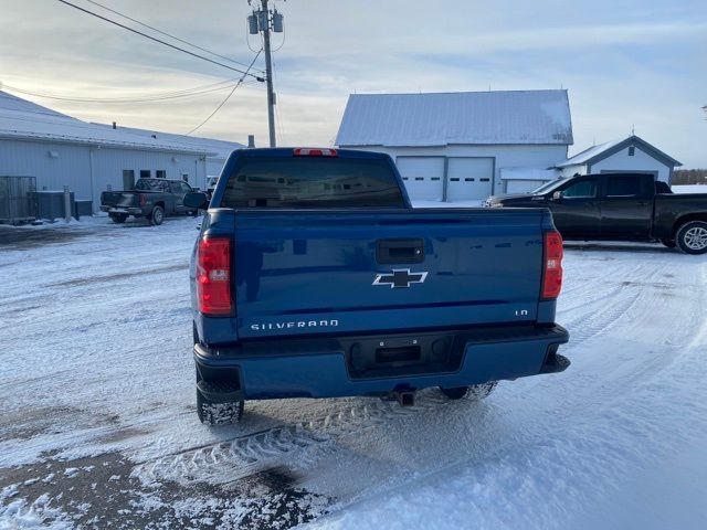
[[[0,176],[35,177],[39,190],[67,186],[77,200],[129,189],[140,177],[204,188],[241,144],[91,124],[0,92]]]

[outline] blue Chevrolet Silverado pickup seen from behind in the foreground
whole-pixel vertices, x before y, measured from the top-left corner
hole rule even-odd
[[[235,151],[190,266],[199,417],[277,398],[411,405],[429,386],[481,399],[560,372],[561,259],[546,209],[413,210],[388,155]]]

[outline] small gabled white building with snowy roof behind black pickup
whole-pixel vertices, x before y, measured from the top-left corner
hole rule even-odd
[[[562,177],[589,173],[651,173],[671,183],[673,170],[680,162],[633,135],[623,140],[590,147],[557,165]]]

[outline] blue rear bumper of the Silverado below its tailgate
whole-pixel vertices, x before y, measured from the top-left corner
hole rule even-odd
[[[194,344],[193,354],[200,383],[224,383],[250,400],[383,395],[428,386],[466,386],[560,372],[569,365],[569,360],[557,354],[559,344],[569,340],[561,326],[460,331],[454,339],[461,348],[457,368],[434,373],[413,367],[409,373],[351,377],[350,353],[345,346],[350,340],[277,340],[219,348]]]

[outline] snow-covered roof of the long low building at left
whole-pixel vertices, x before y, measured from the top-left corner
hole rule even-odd
[[[169,138],[161,140],[159,137],[152,138],[149,135],[138,135],[89,124],[1,91],[0,137],[43,139],[190,155],[215,155],[208,146],[198,145],[199,142],[184,144],[171,141]]]

